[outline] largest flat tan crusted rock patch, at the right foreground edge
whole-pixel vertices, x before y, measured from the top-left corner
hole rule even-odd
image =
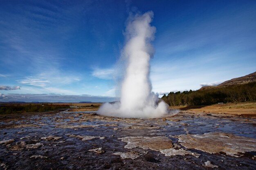
[[[256,139],[236,136],[224,132],[210,132],[202,135],[177,135],[182,146],[194,148],[208,153],[225,152],[232,157],[240,157],[238,153],[256,151]]]

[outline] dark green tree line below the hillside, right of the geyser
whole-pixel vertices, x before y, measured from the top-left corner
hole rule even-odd
[[[256,82],[197,91],[170,92],[162,100],[169,106],[256,101]]]

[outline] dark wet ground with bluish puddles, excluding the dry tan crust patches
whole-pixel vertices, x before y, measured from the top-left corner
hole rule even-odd
[[[0,145],[0,169],[207,169],[204,162],[218,165],[216,169],[256,169],[254,152],[246,152],[240,157],[225,153],[209,154],[201,150],[188,149],[200,154],[175,155],[166,157],[159,151],[142,148],[125,148],[122,137],[165,136],[172,144],[184,148],[174,135],[205,134],[227,132],[249,137],[256,142],[256,121],[240,117],[213,117],[179,113],[165,119],[124,119],[103,117],[95,112],[60,112],[57,114],[31,115],[0,121],[0,141],[14,139],[10,144]],[[74,137],[67,136],[72,134]],[[58,140],[45,140],[50,135],[62,137]],[[81,140],[80,136],[105,137]],[[171,136],[171,137],[170,137]],[[40,143],[38,148],[20,147]],[[210,147],[210,146],[209,146]],[[89,150],[102,148],[105,152]],[[139,157],[121,159],[115,152],[136,152]],[[43,158],[31,157],[41,155]],[[46,158],[47,157],[47,158]]]

